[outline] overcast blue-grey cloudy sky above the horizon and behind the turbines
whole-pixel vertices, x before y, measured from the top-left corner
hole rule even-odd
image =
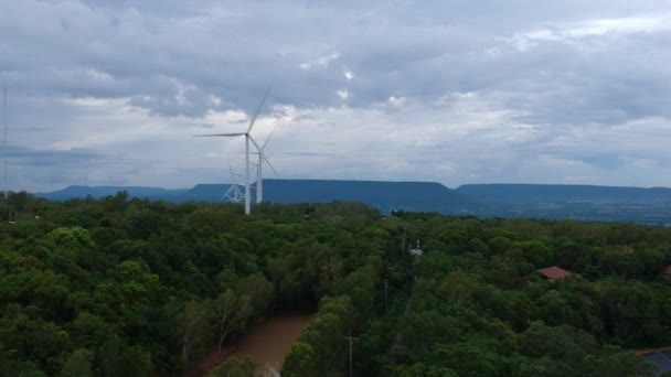
[[[0,0],[9,186],[671,186],[670,0]]]

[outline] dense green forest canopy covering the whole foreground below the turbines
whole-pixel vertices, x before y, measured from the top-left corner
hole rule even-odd
[[[181,376],[275,313],[311,314],[283,376],[348,375],[350,334],[355,376],[649,376],[630,351],[671,345],[664,227],[125,192],[10,205],[0,376]]]

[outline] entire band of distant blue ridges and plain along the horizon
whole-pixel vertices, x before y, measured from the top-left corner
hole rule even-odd
[[[35,194],[61,201],[99,198],[126,190],[129,196],[174,203],[221,202],[230,184],[192,188],[70,186]],[[254,184],[253,184],[254,188]],[[253,190],[253,203],[256,193]],[[557,184],[466,184],[456,190],[435,182],[264,180],[264,200],[274,203],[362,202],[392,209],[479,217],[534,217],[671,224],[671,188]]]

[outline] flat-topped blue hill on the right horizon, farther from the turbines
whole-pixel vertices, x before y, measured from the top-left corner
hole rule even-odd
[[[466,184],[457,192],[490,203],[571,201],[649,202],[671,201],[671,188],[618,187],[561,184]]]

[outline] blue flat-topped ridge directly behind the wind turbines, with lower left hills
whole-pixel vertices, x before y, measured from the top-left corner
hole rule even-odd
[[[36,196],[68,200],[92,195],[100,198],[125,190],[130,197],[164,200],[173,203],[220,202],[228,187],[228,184],[198,184],[190,190],[70,186]],[[254,192],[252,194],[254,195]],[[476,207],[470,198],[435,182],[264,180],[264,198],[274,203],[362,202],[382,212],[402,208],[451,214],[469,212]]]

